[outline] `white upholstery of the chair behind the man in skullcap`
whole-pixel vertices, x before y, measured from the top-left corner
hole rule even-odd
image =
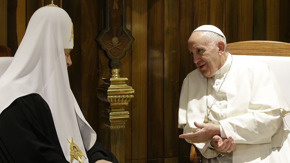
[[[290,57],[284,56],[262,56],[262,55],[233,55],[233,59],[242,58],[248,60],[257,60],[269,65],[275,74],[284,95],[290,103]],[[285,127],[290,129],[290,114],[284,117]]]

